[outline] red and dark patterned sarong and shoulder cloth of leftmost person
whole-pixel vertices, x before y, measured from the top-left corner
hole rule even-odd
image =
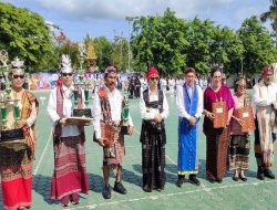
[[[38,113],[39,103],[34,95],[24,91],[21,97],[21,119],[29,118],[35,103]],[[35,133],[34,125],[23,128],[27,147],[20,150],[0,147],[0,174],[4,210],[17,210],[19,207],[32,204],[32,167],[34,158]]]

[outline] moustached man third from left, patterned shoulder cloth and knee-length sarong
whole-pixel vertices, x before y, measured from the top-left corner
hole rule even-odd
[[[109,183],[110,169],[114,170],[115,182],[113,190],[125,195],[127,191],[121,182],[122,164],[125,156],[124,135],[121,132],[123,124],[123,95],[115,87],[117,71],[114,66],[105,70],[105,85],[95,93],[93,102],[94,141],[103,147],[103,178],[102,196],[111,198]],[[127,134],[133,134],[133,122],[129,114]],[[109,134],[109,135],[106,135]]]

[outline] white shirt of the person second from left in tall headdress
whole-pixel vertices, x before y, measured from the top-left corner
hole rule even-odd
[[[63,91],[63,96],[64,96],[63,97],[63,114],[65,117],[70,117],[74,108],[73,90],[74,90],[73,85],[71,87],[66,87],[65,85],[62,84],[62,91]],[[83,97],[83,93],[82,93],[82,97]],[[60,119],[60,116],[57,113],[57,87],[54,87],[50,93],[49,103],[48,103],[48,114],[54,127],[58,120]],[[62,126],[61,137],[79,136],[79,135],[80,135],[80,132],[76,125]]]

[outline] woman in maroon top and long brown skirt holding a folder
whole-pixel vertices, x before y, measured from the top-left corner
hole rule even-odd
[[[225,102],[227,105],[227,125],[214,128],[212,104]],[[222,182],[227,169],[227,150],[229,140],[229,122],[233,115],[234,99],[227,86],[222,84],[222,69],[215,66],[211,72],[211,86],[204,92],[204,124],[206,135],[206,177],[211,182]]]

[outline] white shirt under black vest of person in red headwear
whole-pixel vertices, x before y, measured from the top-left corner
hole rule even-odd
[[[158,101],[158,92],[152,93],[148,90],[148,95],[150,95],[150,102]],[[168,111],[168,104],[167,104],[167,99],[166,99],[164,92],[163,92],[163,95],[164,95],[163,96],[163,112],[161,113],[161,117],[164,119],[168,116],[170,111]],[[141,95],[141,98],[140,98],[140,112],[141,112],[143,119],[154,119],[155,115],[160,114],[158,108],[146,108],[145,102],[143,99],[143,94]]]

